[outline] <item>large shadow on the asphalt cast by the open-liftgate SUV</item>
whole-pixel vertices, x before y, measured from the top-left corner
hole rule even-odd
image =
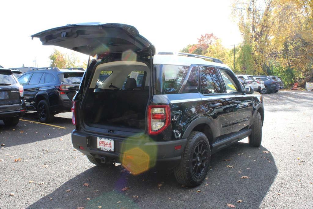
[[[194,188],[179,185],[171,171],[131,175],[121,165],[94,166],[28,208],[226,208],[227,203],[258,208],[277,174],[273,156],[266,152],[262,146],[236,143],[213,154],[208,179]],[[129,189],[122,191],[125,187]]]

